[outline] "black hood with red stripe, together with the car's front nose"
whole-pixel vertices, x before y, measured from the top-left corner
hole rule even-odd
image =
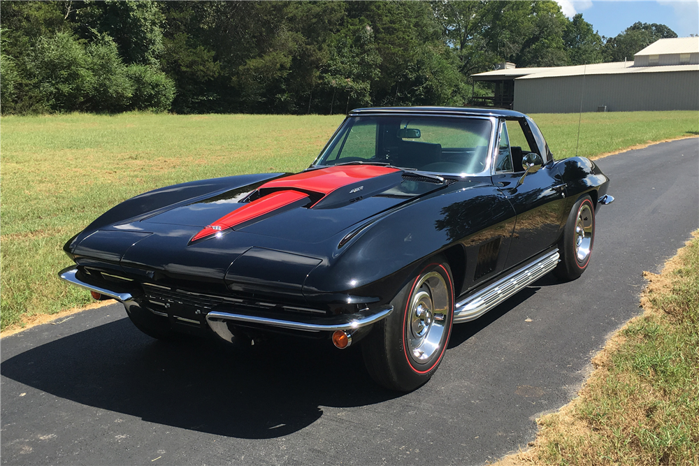
[[[157,283],[196,280],[299,296],[310,270],[338,254],[357,224],[446,186],[383,166],[307,170],[85,231],[69,242],[69,254],[86,268]]]

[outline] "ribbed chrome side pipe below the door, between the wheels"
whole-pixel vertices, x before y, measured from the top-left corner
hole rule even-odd
[[[559,250],[554,249],[534,263],[529,263],[523,268],[515,270],[507,277],[499,279],[485,289],[456,303],[454,323],[473,321],[482,316],[510,296],[554,270],[559,263],[560,256]]]

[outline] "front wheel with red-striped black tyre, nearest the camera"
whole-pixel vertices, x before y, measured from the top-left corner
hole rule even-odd
[[[452,331],[454,286],[447,261],[428,261],[391,303],[394,311],[362,342],[364,363],[377,384],[412,391],[437,370]]]

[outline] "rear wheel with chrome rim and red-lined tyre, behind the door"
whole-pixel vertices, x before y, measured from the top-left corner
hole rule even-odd
[[[584,196],[573,205],[565,222],[559,245],[561,262],[555,269],[556,275],[567,280],[582,275],[590,263],[594,242],[595,207],[590,196]]]

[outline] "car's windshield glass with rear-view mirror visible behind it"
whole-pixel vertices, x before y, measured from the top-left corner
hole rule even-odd
[[[315,166],[377,163],[474,175],[488,166],[491,131],[487,118],[349,117]]]

